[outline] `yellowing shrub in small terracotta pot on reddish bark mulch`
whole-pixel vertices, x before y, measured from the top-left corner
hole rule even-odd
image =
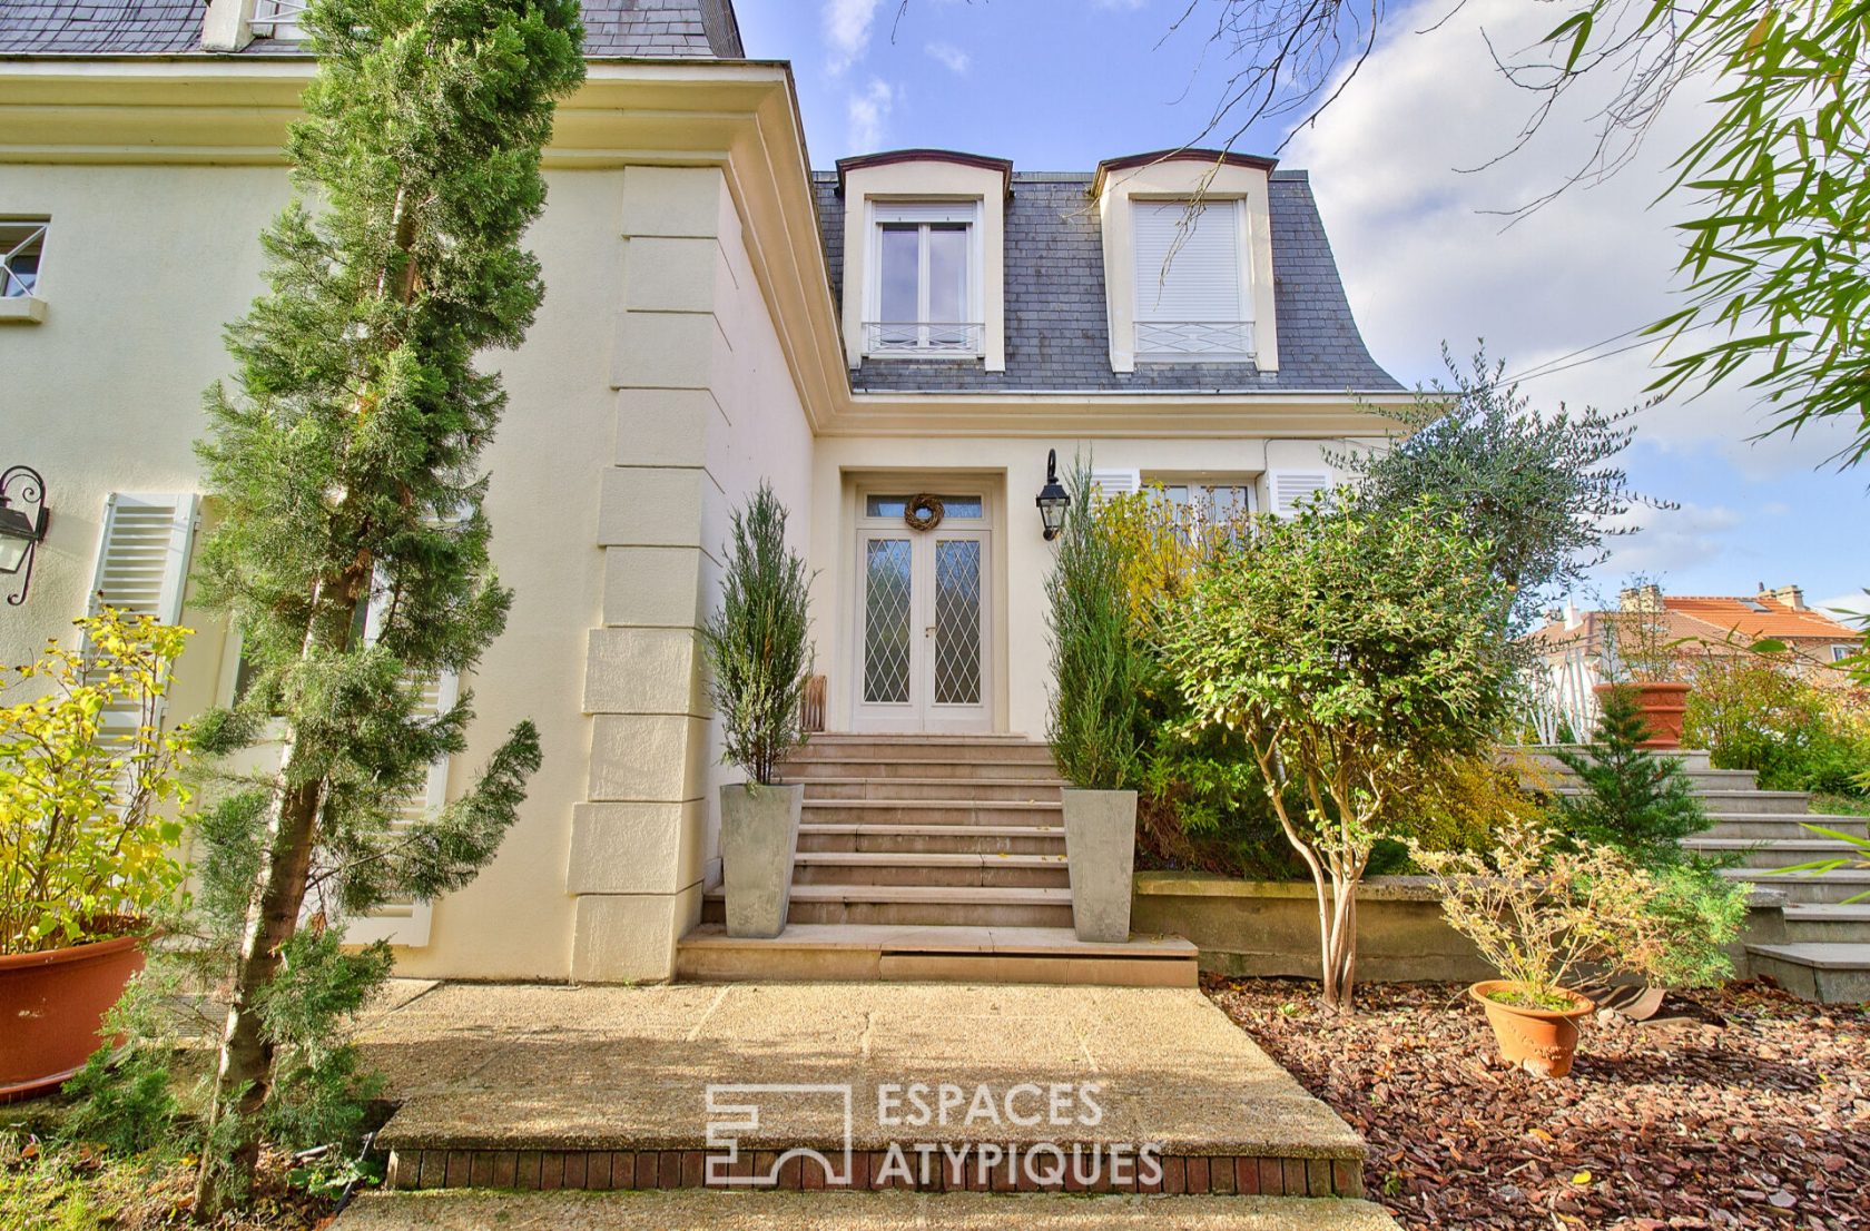
[[[1591,971],[1668,975],[1672,919],[1649,911],[1662,887],[1608,846],[1575,847],[1532,816],[1513,816],[1487,855],[1414,849],[1442,915],[1500,978],[1468,988],[1500,1053],[1537,1078],[1563,1078],[1578,1020],[1595,1005],[1569,988]],[[1679,920],[1677,920],[1679,922]]]

